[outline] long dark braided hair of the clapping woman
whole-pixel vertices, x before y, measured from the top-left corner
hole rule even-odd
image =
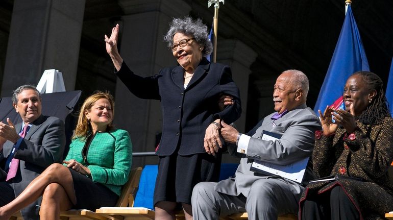
[[[370,90],[375,89],[377,94],[367,108],[359,115],[358,119],[366,125],[381,124],[385,117],[390,117],[388,103],[383,91],[381,78],[370,71],[357,71],[353,75],[360,75],[365,85]]]

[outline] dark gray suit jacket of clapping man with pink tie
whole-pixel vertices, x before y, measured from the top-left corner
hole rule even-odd
[[[17,132],[21,130],[22,124],[15,126]],[[0,152],[0,167],[4,169],[8,155],[10,155],[14,143],[7,141]],[[62,156],[65,147],[64,123],[57,117],[38,117],[30,128],[26,137],[20,143],[19,150],[14,158],[19,159],[18,172],[12,179],[11,186],[17,197],[29,183],[36,178],[43,170],[52,163],[62,163]],[[3,179],[2,181],[5,181]],[[23,209],[24,219],[39,219],[39,205],[41,200],[37,200],[27,208]]]

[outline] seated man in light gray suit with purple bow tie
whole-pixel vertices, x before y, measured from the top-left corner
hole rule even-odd
[[[307,92],[308,79],[303,72],[284,71],[274,85],[275,113],[266,116],[248,134],[222,122],[221,133],[230,143],[229,153],[242,159],[234,178],[218,183],[202,182],[194,187],[191,201],[195,219],[218,219],[219,215],[247,211],[249,219],[276,220],[281,214],[298,213],[304,185],[250,168],[254,161],[287,165],[311,156],[314,133],[321,126],[318,117],[306,106]],[[272,132],[277,139],[265,140],[263,131]],[[304,180],[312,178],[309,163]]]

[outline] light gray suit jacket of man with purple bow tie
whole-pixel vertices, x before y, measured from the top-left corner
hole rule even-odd
[[[310,157],[314,146],[314,133],[321,130],[321,125],[315,113],[307,108],[306,105],[298,106],[289,111],[283,117],[273,120],[271,117],[274,113],[266,116],[252,130],[252,138],[247,149],[247,155],[236,153],[237,146],[231,144],[228,151],[232,155],[242,156],[240,164],[237,167],[235,178],[230,178],[218,182],[215,190],[229,195],[239,195],[242,193],[248,197],[251,185],[259,179],[277,178],[264,175],[255,175],[250,171],[254,159],[269,163],[285,165],[295,161],[300,161]],[[273,126],[273,121],[276,126]],[[270,131],[282,134],[278,141],[261,140],[262,131]],[[313,179],[311,163],[304,179]],[[278,177],[280,178],[280,177]],[[288,187],[295,195],[300,196],[304,187],[301,184],[286,180]]]

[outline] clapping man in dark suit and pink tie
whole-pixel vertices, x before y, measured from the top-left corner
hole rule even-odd
[[[61,163],[65,146],[64,123],[41,114],[41,96],[32,85],[17,88],[13,106],[22,118],[14,126],[0,121],[0,206],[15,199],[52,163]],[[39,204],[21,210],[24,219],[39,219]]]

